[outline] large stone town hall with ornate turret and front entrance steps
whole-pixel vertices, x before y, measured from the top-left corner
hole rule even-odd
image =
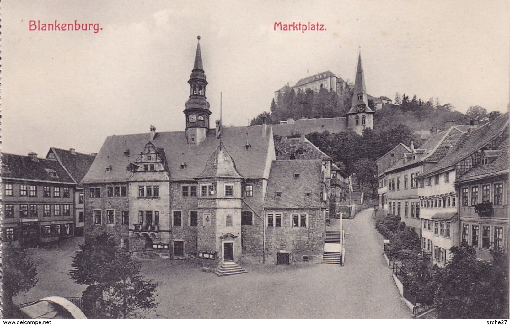
[[[200,44],[188,83],[185,130],[105,140],[83,179],[86,234],[109,229],[136,255],[210,260],[219,274],[320,262],[330,179],[343,179],[331,158],[304,137],[275,140],[265,121],[212,128]]]

